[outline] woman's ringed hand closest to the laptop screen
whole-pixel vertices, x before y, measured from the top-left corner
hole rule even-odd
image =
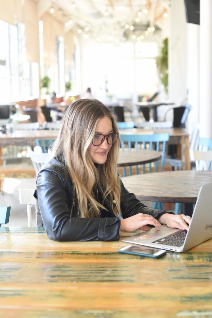
[[[179,224],[179,220],[183,219],[183,221],[180,221]],[[165,213],[163,215],[161,215],[161,217],[159,217],[159,222],[161,224],[166,224],[167,226],[171,227],[171,228],[177,228],[180,230],[188,230],[188,225],[191,224],[191,219],[186,217],[185,214],[169,214],[169,213]]]

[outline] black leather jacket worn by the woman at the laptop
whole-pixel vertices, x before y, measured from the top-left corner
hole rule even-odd
[[[123,218],[137,213],[151,214],[158,219],[165,210],[146,207],[133,193],[125,189],[121,179],[121,212]],[[49,239],[57,241],[110,241],[119,240],[120,219],[113,213],[110,203],[104,202],[108,211],[100,218],[79,218],[74,184],[55,159],[48,162],[38,174],[34,193],[37,208],[37,225],[45,226]]]

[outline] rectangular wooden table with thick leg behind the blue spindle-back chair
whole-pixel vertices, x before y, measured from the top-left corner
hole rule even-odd
[[[169,141],[167,144],[178,145],[179,156],[182,160],[182,169],[190,170],[190,157],[189,157],[189,134],[185,128],[165,128],[165,129],[150,129],[150,128],[129,128],[119,129],[120,134],[157,134],[157,133],[169,133]]]

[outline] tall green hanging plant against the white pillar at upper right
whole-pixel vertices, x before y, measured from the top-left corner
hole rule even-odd
[[[163,40],[163,47],[160,56],[156,59],[159,79],[164,85],[166,93],[168,92],[168,38]]]

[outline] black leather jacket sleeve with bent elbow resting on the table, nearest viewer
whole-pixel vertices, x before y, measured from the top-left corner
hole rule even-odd
[[[71,217],[67,192],[60,174],[39,172],[36,185],[38,205],[49,239],[56,241],[119,240],[119,218]]]

